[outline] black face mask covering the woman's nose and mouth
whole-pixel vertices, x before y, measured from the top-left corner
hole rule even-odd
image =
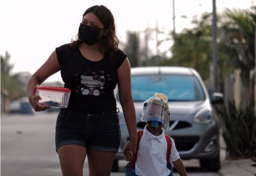
[[[99,41],[100,30],[100,27],[93,27],[80,23],[78,33],[85,44],[93,45]]]

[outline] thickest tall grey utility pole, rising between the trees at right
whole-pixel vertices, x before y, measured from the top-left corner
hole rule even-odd
[[[217,17],[216,2],[213,0],[213,92],[218,91],[218,67],[217,67]]]

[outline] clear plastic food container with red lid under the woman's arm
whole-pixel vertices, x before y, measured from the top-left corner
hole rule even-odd
[[[55,108],[68,107],[71,90],[64,87],[39,86],[36,87],[36,95],[39,95],[42,100],[39,103]]]

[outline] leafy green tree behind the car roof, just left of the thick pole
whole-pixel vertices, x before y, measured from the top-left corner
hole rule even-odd
[[[204,13],[201,19],[193,19],[192,24],[192,29],[172,33],[173,56],[170,60],[164,61],[164,65],[193,67],[205,80],[209,77],[212,60],[211,14]]]

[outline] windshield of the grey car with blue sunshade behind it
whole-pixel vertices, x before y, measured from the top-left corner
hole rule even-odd
[[[195,76],[143,75],[132,76],[134,102],[143,102],[154,95],[163,93],[168,101],[196,101],[205,99],[199,80]]]

